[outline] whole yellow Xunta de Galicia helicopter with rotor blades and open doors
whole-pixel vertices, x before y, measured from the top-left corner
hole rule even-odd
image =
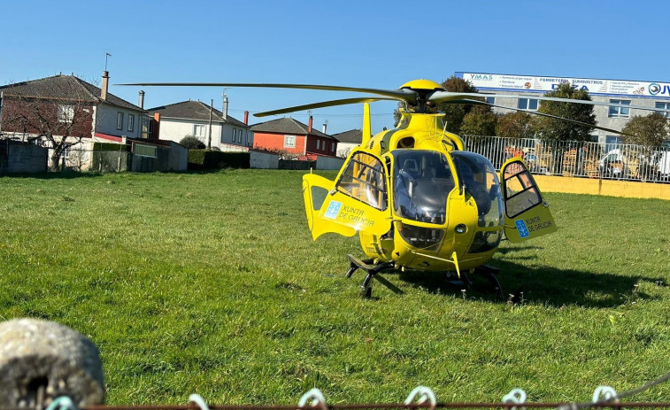
[[[401,292],[378,275],[389,269],[454,273],[458,278],[453,282],[465,286],[471,283],[467,273],[481,273],[502,296],[494,275],[497,268],[486,263],[503,237],[518,243],[557,230],[549,205],[522,159],[509,159],[497,173],[489,159],[466,151],[461,138],[444,129],[443,114],[427,113],[430,104],[444,102],[498,106],[474,99],[481,94],[449,92],[428,80],[409,81],[399,89],[266,83],[124,85],[323,89],[374,94],[254,114],[264,117],[326,106],[364,104],[360,145],[350,151],[335,181],[318,174],[305,174],[303,194],[307,223],[314,240],[326,233],[343,236],[358,233],[367,259],[348,255],[347,277],[357,269],[366,272],[361,292],[367,298],[372,295],[373,279]],[[397,128],[372,135],[369,103],[379,100],[402,101],[406,109],[400,110]],[[620,134],[617,130],[568,121]]]

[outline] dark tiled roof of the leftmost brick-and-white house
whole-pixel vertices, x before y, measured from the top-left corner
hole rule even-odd
[[[16,82],[0,87],[5,96],[39,97],[46,99],[73,99],[100,104],[107,103],[130,110],[144,111],[135,104],[107,93],[107,99],[100,98],[100,89],[73,75],[54,75],[38,80]]]

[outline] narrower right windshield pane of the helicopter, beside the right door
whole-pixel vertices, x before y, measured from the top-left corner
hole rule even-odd
[[[454,151],[451,159],[456,166],[458,181],[474,198],[479,213],[480,227],[498,227],[504,224],[503,197],[496,169],[489,159],[474,152]]]

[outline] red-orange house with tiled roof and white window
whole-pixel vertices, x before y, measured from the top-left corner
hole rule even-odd
[[[337,139],[312,128],[312,117],[305,125],[292,118],[261,122],[251,127],[253,147],[258,150],[283,151],[301,159],[316,159],[317,155],[335,157]]]

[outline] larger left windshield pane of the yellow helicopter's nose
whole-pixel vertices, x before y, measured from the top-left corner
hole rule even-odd
[[[394,209],[409,220],[443,224],[447,197],[454,189],[454,178],[441,152],[396,150],[393,171]]]

